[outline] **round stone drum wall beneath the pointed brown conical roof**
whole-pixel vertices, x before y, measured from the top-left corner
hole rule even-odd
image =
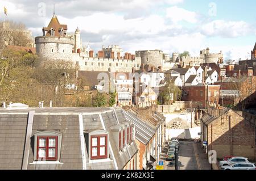
[[[73,42],[72,37],[36,37],[36,54],[48,60],[72,61]]]

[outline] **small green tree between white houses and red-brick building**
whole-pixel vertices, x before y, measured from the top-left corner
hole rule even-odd
[[[173,81],[168,80],[164,86],[162,97],[164,104],[170,105],[171,101],[176,102],[177,100],[181,100],[181,90],[179,87],[175,86]]]

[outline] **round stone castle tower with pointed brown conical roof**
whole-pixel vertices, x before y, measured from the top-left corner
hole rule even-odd
[[[43,28],[43,36],[35,37],[36,54],[46,60],[72,61],[74,40],[67,36],[67,30],[67,25],[53,15],[48,27]]]

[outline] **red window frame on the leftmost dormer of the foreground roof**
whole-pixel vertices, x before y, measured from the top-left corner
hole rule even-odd
[[[39,147],[39,139],[40,138],[45,138],[46,139],[46,146],[44,147]],[[54,147],[49,147],[49,138],[55,138],[55,146]],[[46,149],[46,157],[39,157],[39,148],[44,148]],[[49,157],[49,149],[54,148],[55,149],[55,157]],[[56,161],[57,160],[57,153],[58,153],[58,137],[57,136],[38,136],[37,139],[37,151],[36,151],[36,160],[38,161]]]

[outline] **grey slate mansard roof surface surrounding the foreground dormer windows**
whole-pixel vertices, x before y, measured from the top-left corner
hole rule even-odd
[[[63,164],[31,164],[34,162],[34,141],[31,137],[28,169],[82,169],[79,115],[82,114],[84,131],[104,130],[109,132],[109,141],[113,154],[105,162],[88,162],[86,151],[86,169],[118,169],[129,162],[137,151],[135,142],[127,146],[127,151],[119,154],[118,143],[111,130],[113,126],[128,123],[121,108],[26,108],[13,110],[0,108],[0,169],[21,169],[26,141],[28,112],[35,111],[32,124],[32,135],[39,131],[58,131],[62,133],[60,162]],[[102,116],[102,121],[100,119]],[[104,126],[102,125],[104,123]],[[85,144],[85,150],[88,150]]]

